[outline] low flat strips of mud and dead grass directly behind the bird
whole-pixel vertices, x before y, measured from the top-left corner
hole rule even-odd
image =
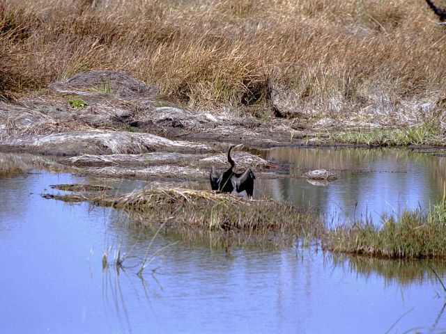
[[[270,172],[275,165],[248,152],[236,152],[238,168],[252,168],[263,177],[279,177]],[[223,171],[228,168],[226,152],[217,154],[187,154],[150,152],[145,154],[108,154],[62,158],[26,153],[0,152],[0,177],[26,174],[44,169],[55,173],[67,172],[79,176],[113,179],[146,180],[151,184],[171,182],[207,183],[210,166]],[[174,184],[174,183],[173,183]]]

